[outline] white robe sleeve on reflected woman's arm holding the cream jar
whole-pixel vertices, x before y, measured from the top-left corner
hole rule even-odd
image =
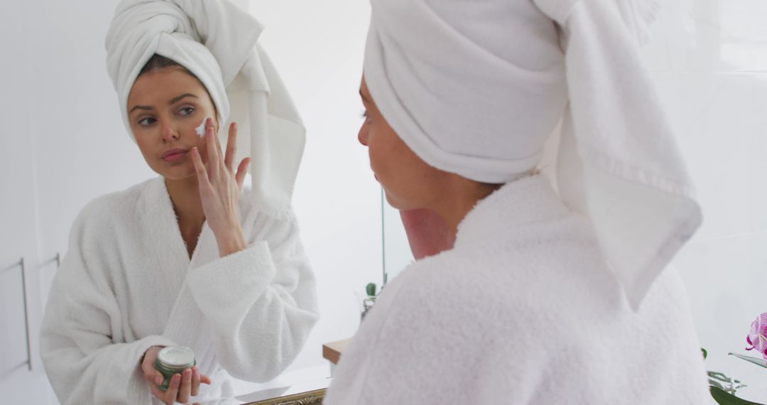
[[[124,343],[127,320],[107,262],[119,252],[107,248],[109,222],[99,213],[86,207],[71,229],[41,327],[42,361],[63,405],[150,403],[140,359],[152,346],[174,343],[161,336]]]

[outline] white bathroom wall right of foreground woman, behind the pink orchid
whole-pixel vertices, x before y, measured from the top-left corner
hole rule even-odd
[[[647,60],[696,182],[704,223],[674,265],[687,286],[709,370],[767,402],[767,370],[746,352],[767,311],[767,2],[664,0]]]

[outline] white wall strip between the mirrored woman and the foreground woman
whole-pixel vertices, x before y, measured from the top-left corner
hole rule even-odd
[[[383,279],[380,187],[367,149],[357,142],[370,5],[359,0],[247,3],[266,25],[262,44],[308,128],[294,201],[318,275],[321,319],[288,373],[302,375],[301,368],[318,366],[327,371],[321,344],[354,335],[365,285],[380,285]]]

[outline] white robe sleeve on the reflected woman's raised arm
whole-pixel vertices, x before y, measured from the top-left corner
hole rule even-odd
[[[318,305],[295,218],[252,217],[245,216],[243,227],[248,248],[192,269],[187,282],[212,324],[222,367],[233,377],[262,382],[301,351]]]

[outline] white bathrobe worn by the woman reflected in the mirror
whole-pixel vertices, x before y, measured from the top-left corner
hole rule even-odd
[[[158,403],[139,364],[154,345],[192,347],[213,380],[198,398],[288,367],[318,319],[314,275],[295,219],[266,216],[249,193],[239,205],[249,247],[224,258],[205,225],[189,259],[162,177],[83,209],[41,330],[61,403]]]

